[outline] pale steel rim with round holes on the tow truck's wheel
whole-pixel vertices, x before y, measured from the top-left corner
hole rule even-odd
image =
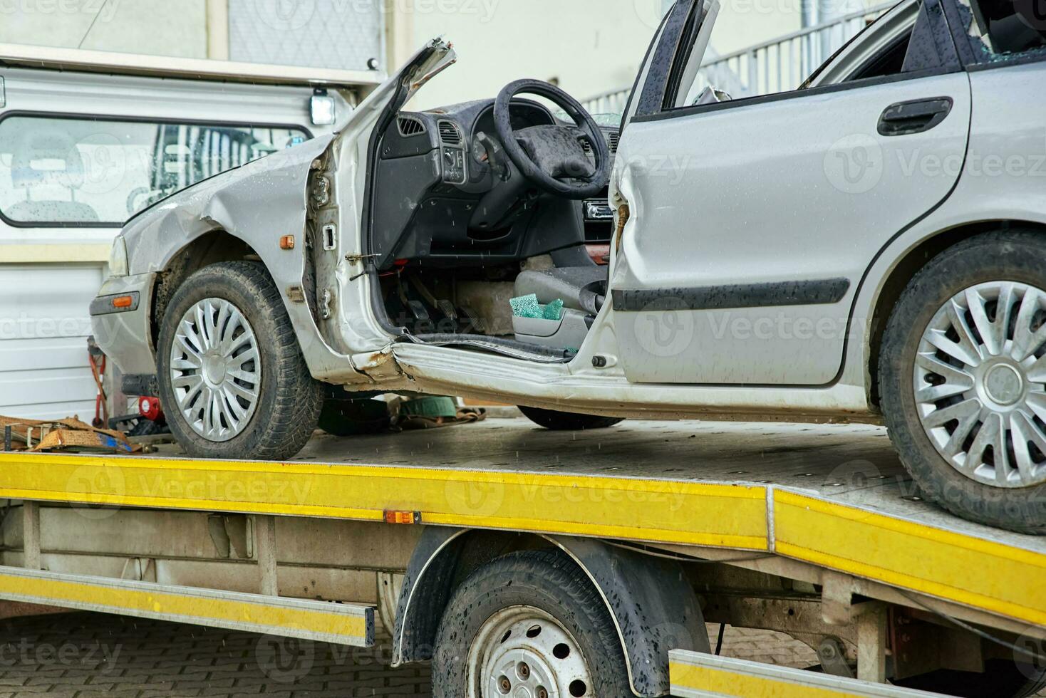
[[[594,696],[577,643],[530,606],[495,613],[469,649],[469,698]]]

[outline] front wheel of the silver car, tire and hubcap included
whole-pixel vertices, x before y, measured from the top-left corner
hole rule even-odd
[[[197,458],[288,460],[323,405],[279,292],[253,262],[207,266],[175,293],[157,369],[167,424]]]

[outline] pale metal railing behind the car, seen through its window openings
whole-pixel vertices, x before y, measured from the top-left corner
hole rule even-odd
[[[833,53],[894,4],[874,5],[726,55],[706,55],[697,88],[711,85],[735,98],[795,90]],[[708,52],[711,51],[709,48]],[[611,90],[583,103],[592,114],[617,114],[624,111],[631,94],[632,88]]]

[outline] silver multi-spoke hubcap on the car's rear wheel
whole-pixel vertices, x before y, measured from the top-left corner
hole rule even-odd
[[[998,281],[955,296],[923,334],[914,390],[959,472],[994,487],[1046,482],[1046,293]]]

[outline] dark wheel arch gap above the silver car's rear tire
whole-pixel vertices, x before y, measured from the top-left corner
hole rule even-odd
[[[1046,224],[1039,222],[1006,218],[971,222],[928,235],[897,260],[880,284],[869,318],[865,370],[869,376],[868,400],[871,404],[880,405],[879,358],[886,326],[908,283],[932,259],[959,242],[982,233],[1013,229],[1037,230],[1046,235]]]

